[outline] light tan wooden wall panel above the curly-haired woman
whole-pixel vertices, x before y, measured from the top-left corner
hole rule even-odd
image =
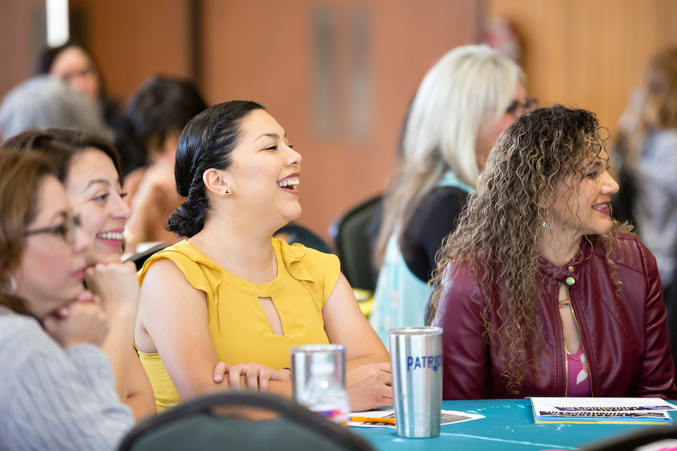
[[[486,0],[516,26],[531,96],[590,109],[615,132],[650,58],[677,44],[671,0]]]

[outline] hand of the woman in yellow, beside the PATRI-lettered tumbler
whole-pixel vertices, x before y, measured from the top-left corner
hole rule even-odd
[[[389,363],[366,364],[346,373],[350,410],[362,412],[393,404],[393,376]]]

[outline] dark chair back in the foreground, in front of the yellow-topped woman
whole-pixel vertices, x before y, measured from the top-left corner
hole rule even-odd
[[[119,451],[372,451],[348,428],[266,393],[229,391],[143,421]]]

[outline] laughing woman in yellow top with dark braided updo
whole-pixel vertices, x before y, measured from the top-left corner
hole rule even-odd
[[[135,331],[159,409],[219,390],[219,368],[230,385],[289,396],[289,348],[327,342],[348,349],[353,410],[392,404],[389,354],[338,259],[272,238],[300,215],[300,162],[251,101],[212,106],[181,133],[176,187],[188,200],[168,228],[188,239],[140,271]]]

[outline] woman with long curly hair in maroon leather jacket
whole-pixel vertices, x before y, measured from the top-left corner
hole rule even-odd
[[[496,143],[434,279],[444,399],[677,397],[656,259],[611,218],[599,131],[554,106]]]

